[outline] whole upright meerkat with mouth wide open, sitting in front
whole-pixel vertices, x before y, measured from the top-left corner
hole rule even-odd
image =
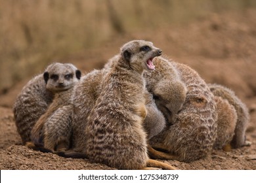
[[[174,169],[148,158],[142,128],[146,117],[142,72],[154,70],[152,59],[161,50],[152,42],[131,41],[120,52],[103,77],[101,92],[87,118],[85,152],[92,161],[117,169],[145,169],[147,165]]]

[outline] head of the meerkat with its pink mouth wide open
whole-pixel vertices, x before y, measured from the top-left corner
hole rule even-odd
[[[142,40],[127,42],[120,51],[121,56],[129,63],[129,66],[140,72],[143,69],[154,71],[153,58],[161,56],[161,50],[153,46],[152,42]]]

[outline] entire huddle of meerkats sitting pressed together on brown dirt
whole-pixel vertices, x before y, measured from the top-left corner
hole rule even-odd
[[[81,77],[73,67],[68,90],[57,87],[68,72],[49,65],[14,104],[22,141],[117,169],[175,169],[150,158],[189,162],[244,146],[249,115],[240,99],[160,55],[152,42],[127,42],[103,69]]]

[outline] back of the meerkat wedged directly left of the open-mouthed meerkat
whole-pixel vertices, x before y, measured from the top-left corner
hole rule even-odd
[[[106,69],[91,71],[83,76],[74,88],[72,95],[74,107],[72,144],[74,150],[78,152],[85,152],[87,118],[101,92],[100,82],[104,79],[104,75],[106,75]]]

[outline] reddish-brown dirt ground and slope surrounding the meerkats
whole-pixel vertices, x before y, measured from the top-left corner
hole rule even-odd
[[[256,10],[223,12],[186,25],[170,25],[155,30],[117,35],[109,42],[75,53],[61,62],[77,65],[83,73],[101,68],[119,46],[132,39],[146,39],[180,63],[186,63],[205,82],[223,84],[236,92],[249,108],[246,131],[251,146],[230,152],[213,150],[209,156],[191,163],[165,161],[179,169],[256,169]],[[111,169],[88,159],[62,158],[37,152],[22,145],[16,132],[12,105],[22,86],[20,81],[0,95],[0,169]]]

